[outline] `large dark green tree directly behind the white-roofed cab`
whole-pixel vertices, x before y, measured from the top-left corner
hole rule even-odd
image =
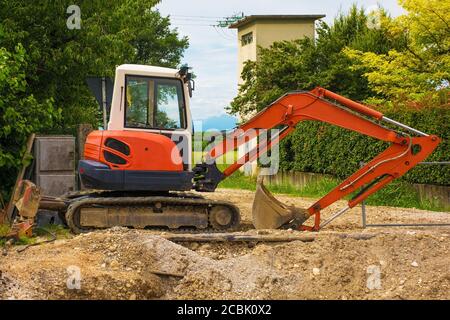
[[[52,129],[70,132],[82,122],[97,125],[98,106],[85,81],[114,76],[123,63],[175,67],[188,46],[154,9],[158,0],[81,1],[80,29],[66,25],[73,1],[0,0],[8,50],[21,43],[27,51],[27,90],[53,98],[62,121]]]

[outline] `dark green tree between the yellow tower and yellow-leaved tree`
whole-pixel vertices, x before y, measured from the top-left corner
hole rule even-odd
[[[379,15],[390,20],[382,9]],[[331,26],[319,21],[317,39],[300,39],[274,43],[259,48],[258,60],[248,61],[242,72],[244,80],[229,112],[241,115],[260,110],[291,90],[309,90],[315,86],[364,100],[376,95],[362,75],[365,69],[353,69],[354,61],[343,53],[346,47],[386,53],[401,48],[402,35],[393,37],[383,25],[372,28],[364,10],[353,6],[340,13]]]

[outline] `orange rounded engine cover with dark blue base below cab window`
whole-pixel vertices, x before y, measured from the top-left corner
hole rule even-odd
[[[175,142],[149,132],[93,131],[78,172],[87,188],[102,190],[185,191],[192,171],[183,170]]]

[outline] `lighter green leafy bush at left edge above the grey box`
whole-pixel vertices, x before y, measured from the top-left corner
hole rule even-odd
[[[0,195],[6,198],[22,165],[20,155],[32,132],[52,126],[60,117],[52,99],[27,94],[26,53],[21,45],[9,52],[0,48]]]

